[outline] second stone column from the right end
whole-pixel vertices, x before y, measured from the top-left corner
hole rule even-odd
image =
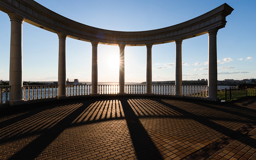
[[[176,39],[176,60],[175,60],[175,96],[182,97],[182,58],[181,58],[182,39]]]

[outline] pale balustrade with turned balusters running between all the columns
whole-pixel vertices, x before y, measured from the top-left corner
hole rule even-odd
[[[10,86],[0,86],[0,104],[8,103],[8,91]],[[66,85],[66,96],[90,96],[92,85]],[[97,88],[99,95],[117,95],[119,85],[99,84]],[[5,97],[3,97],[5,93]],[[145,84],[125,84],[126,95],[144,95],[147,93]],[[175,85],[152,85],[153,95],[175,95]],[[183,96],[205,98],[208,96],[206,85],[183,85]],[[58,95],[58,85],[27,85],[23,86],[23,99],[25,101],[55,98]]]

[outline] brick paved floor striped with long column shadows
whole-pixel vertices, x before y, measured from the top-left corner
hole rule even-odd
[[[0,159],[256,159],[256,99],[109,98],[0,109]]]

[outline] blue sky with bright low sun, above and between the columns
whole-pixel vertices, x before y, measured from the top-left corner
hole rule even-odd
[[[182,23],[223,3],[234,8],[217,33],[218,80],[256,78],[255,0],[36,0],[77,22],[115,31],[146,31]],[[0,79],[9,80],[10,18],[0,11]],[[23,24],[23,80],[58,80],[58,36]],[[125,81],[146,81],[146,46],[125,47]],[[91,81],[91,43],[67,38],[67,78]],[[183,80],[208,78],[208,36],[182,42]],[[175,43],[153,45],[152,80],[175,80]],[[119,81],[119,47],[98,45],[98,81]]]

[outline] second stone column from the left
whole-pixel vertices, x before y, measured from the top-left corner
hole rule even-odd
[[[66,37],[63,33],[59,36],[59,68],[58,68],[58,99],[66,97]]]

